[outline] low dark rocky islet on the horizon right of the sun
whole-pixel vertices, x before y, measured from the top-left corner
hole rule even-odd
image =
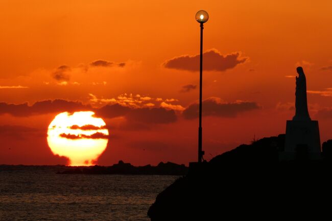
[[[157,166],[133,166],[120,160],[112,166],[73,166],[58,171],[58,174],[123,174],[123,175],[185,175],[188,167],[184,164],[163,163]]]

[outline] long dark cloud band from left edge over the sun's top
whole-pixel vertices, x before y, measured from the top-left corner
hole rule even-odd
[[[149,103],[147,103],[149,104]],[[46,100],[34,103],[29,106],[25,104],[7,104],[0,103],[0,114],[10,114],[15,117],[28,117],[38,114],[60,113],[75,111],[93,111],[102,118],[124,117],[129,122],[143,122],[145,124],[167,124],[177,120],[173,108],[170,107],[152,107],[152,105],[133,107],[123,106],[118,103],[104,105],[96,108],[90,105],[84,105],[80,102],[71,102],[65,100]],[[90,126],[82,127],[82,130]]]

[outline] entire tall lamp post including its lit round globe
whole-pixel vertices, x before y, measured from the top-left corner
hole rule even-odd
[[[201,27],[200,43],[200,66],[199,66],[199,127],[198,127],[198,162],[201,163],[204,155],[202,151],[202,78],[203,78],[203,24],[209,19],[206,11],[201,10],[196,13],[196,20]]]

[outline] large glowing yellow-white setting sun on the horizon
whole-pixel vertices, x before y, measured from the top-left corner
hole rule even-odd
[[[92,165],[104,152],[108,130],[92,111],[58,114],[48,129],[48,143],[55,155],[69,158],[71,166]]]

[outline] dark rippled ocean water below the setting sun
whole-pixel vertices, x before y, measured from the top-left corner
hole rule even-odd
[[[177,176],[57,175],[61,166],[0,165],[0,220],[150,220]]]

